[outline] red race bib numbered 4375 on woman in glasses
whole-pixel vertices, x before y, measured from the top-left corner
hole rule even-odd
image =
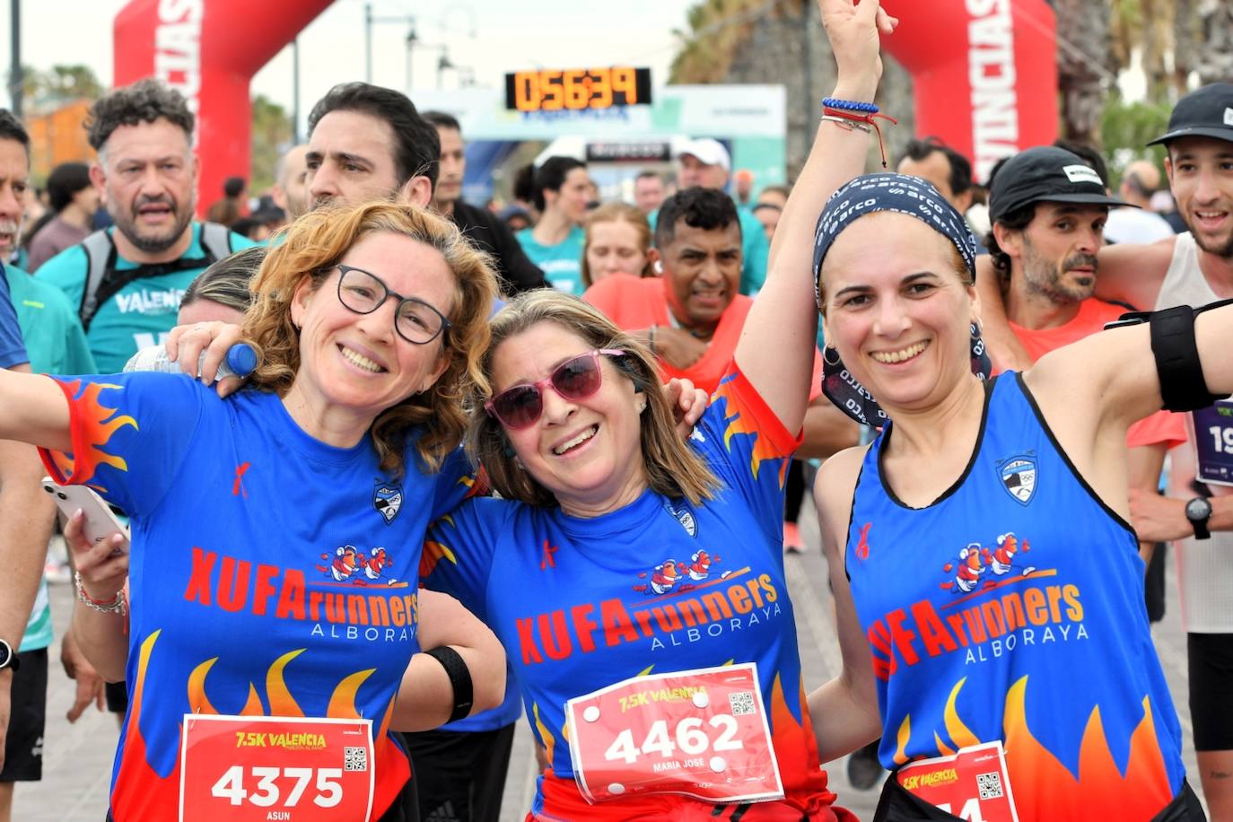
[[[184,716],[180,822],[367,820],[372,722]]]

